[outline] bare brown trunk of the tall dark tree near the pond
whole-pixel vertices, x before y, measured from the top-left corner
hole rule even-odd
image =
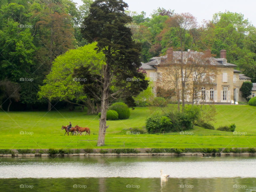
[[[103,146],[105,145],[105,135],[106,135],[106,119],[107,119],[107,107],[109,102],[109,69],[108,69],[108,63],[106,63],[106,66],[103,67],[103,77],[104,77],[104,83],[103,83],[103,93],[102,93],[102,100],[101,100],[101,118],[99,119],[99,136],[98,136],[98,142],[97,146]]]

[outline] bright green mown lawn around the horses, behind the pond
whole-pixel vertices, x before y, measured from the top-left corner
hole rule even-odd
[[[175,106],[174,106],[175,107]],[[126,134],[130,127],[142,127],[157,107],[136,107],[126,120],[107,121],[106,146],[118,147],[254,147],[256,146],[256,107],[249,105],[217,105],[215,128],[220,125],[235,123],[236,131],[246,135],[234,135],[232,132],[207,130],[195,126],[192,135],[168,134]],[[99,117],[86,115],[79,110],[35,111],[35,112],[0,112],[0,148],[94,148],[98,138]],[[62,125],[89,127],[91,135],[64,136]],[[20,131],[33,134],[20,134]]]

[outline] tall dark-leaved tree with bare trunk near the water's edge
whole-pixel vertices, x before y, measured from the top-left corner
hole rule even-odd
[[[97,51],[105,55],[105,65],[96,81],[101,82],[101,118],[97,146],[105,144],[106,111],[109,99],[120,93],[127,93],[128,97],[145,90],[148,82],[144,74],[138,71],[141,66],[139,54],[140,45],[132,39],[130,28],[126,27],[132,18],[125,14],[127,3],[122,0],[96,0],[91,4],[90,14],[85,17],[82,34],[89,42],[97,41]],[[139,79],[129,81],[128,78]],[[111,93],[111,87],[114,87]],[[127,91],[132,87],[133,92]]]

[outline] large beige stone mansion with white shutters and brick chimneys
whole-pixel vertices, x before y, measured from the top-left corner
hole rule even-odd
[[[180,91],[181,79],[186,78],[186,102],[215,102],[218,104],[245,102],[240,88],[244,81],[251,81],[251,78],[240,74],[241,71],[235,70],[236,65],[228,63],[226,50],[221,50],[220,56],[221,58],[211,57],[210,50],[204,53],[188,50],[183,51],[181,57],[181,51],[173,51],[172,48],[169,48],[167,55],[153,57],[148,63],[142,63],[141,67],[147,72],[154,93],[156,93],[157,87]],[[183,62],[181,62],[181,58],[183,58]],[[184,66],[183,76],[180,65]],[[212,75],[211,71],[214,71]],[[201,80],[197,81],[200,78]],[[197,88],[194,88],[195,85]],[[251,97],[253,96],[256,96],[256,83],[252,89]]]

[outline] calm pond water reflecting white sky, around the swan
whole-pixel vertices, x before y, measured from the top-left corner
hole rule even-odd
[[[256,192],[256,157],[1,158],[0,191]]]

